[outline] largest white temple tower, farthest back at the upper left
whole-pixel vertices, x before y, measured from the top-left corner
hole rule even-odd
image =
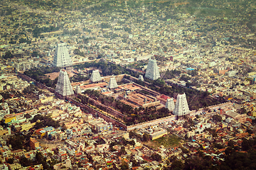
[[[73,64],[68,54],[68,48],[65,43],[57,45],[55,55],[53,57],[53,67],[71,67]]]

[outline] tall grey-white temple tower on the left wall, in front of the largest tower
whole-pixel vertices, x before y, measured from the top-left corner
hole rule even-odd
[[[74,94],[73,88],[70,84],[70,79],[68,78],[68,73],[65,70],[60,70],[55,92],[61,97],[71,96]]]

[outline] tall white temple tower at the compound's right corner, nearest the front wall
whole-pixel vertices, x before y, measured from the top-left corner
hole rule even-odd
[[[189,114],[188,102],[186,100],[186,94],[178,94],[177,101],[174,108],[174,115],[187,115]]]

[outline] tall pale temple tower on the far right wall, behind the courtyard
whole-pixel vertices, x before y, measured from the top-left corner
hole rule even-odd
[[[156,80],[160,77],[159,67],[156,64],[156,60],[149,59],[149,64],[146,67],[145,77],[151,80]]]

